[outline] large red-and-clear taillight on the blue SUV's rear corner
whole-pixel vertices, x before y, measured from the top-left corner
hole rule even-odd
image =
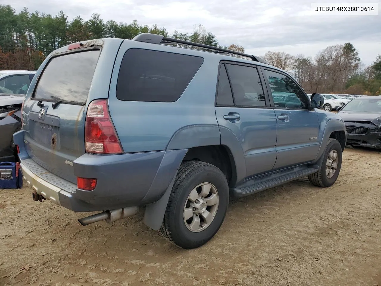
[[[123,153],[122,145],[112,124],[107,100],[94,100],[87,109],[85,123],[85,149],[88,153]]]

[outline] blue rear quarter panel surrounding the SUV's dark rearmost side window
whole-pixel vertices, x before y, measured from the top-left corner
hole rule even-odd
[[[175,102],[122,101],[116,97],[116,85],[123,55],[130,48],[202,56],[204,63]],[[218,58],[205,56],[197,50],[130,40],[123,42],[115,61],[109,93],[110,114],[123,150],[132,153],[220,144],[215,114],[218,63]]]

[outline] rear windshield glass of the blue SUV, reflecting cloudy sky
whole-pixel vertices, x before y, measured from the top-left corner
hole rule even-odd
[[[85,102],[100,53],[91,50],[52,58],[40,76],[34,97]]]

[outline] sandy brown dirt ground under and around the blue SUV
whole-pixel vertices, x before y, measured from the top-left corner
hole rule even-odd
[[[0,190],[0,286],[381,286],[381,154],[347,148],[335,185],[306,178],[231,201],[205,246],[186,251],[141,213],[82,227],[32,190]]]

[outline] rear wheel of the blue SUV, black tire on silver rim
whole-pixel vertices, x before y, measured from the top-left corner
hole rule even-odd
[[[196,197],[194,196],[194,189],[197,186],[199,188],[196,190],[196,195],[198,195],[197,198],[200,201],[195,200]],[[203,191],[205,194],[209,186],[210,193],[203,198],[201,191],[205,188],[205,191]],[[211,201],[212,196],[213,201]],[[196,206],[197,201],[200,202],[197,205],[199,207],[192,207]],[[212,203],[214,205],[210,205]],[[163,224],[159,231],[171,243],[181,248],[193,249],[202,246],[213,238],[221,227],[228,205],[229,186],[226,176],[220,169],[200,161],[183,162],[176,175]],[[206,211],[209,214],[214,214],[214,218],[209,223],[204,219],[204,216],[211,218],[207,216]],[[190,214],[192,214],[192,217],[189,217]],[[189,217],[189,219],[186,220],[185,216]],[[194,230],[191,230],[191,227]]]

